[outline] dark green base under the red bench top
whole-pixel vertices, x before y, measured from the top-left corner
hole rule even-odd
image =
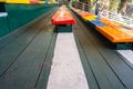
[[[72,24],[57,24],[57,32],[72,32]]]

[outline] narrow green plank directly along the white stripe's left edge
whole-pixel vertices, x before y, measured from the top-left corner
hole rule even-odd
[[[34,86],[34,89],[47,89],[49,75],[50,75],[50,70],[51,70],[51,65],[52,65],[52,58],[54,56],[55,40],[57,40],[57,33],[53,33],[52,41],[51,41],[48,55],[45,57],[45,61],[44,61],[42,72],[40,75],[39,81]]]

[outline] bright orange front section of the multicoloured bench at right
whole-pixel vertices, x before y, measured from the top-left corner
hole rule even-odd
[[[133,42],[133,36],[124,32],[121,29],[113,29],[111,27],[96,27],[100,33],[106,37],[111,42]]]

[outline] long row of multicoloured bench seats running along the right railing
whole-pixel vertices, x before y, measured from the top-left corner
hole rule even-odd
[[[98,17],[94,13],[89,13],[80,9],[72,8],[72,10],[111,42],[133,42],[133,28],[116,23],[106,18]]]

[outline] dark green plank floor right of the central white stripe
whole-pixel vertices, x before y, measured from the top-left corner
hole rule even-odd
[[[133,89],[133,68],[110,42],[75,16],[74,36],[90,89]]]

